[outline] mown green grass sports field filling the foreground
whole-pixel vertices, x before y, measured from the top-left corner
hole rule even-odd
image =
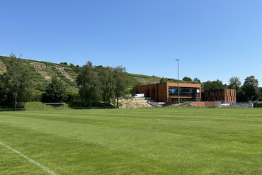
[[[0,112],[0,143],[5,175],[261,174],[262,108]]]

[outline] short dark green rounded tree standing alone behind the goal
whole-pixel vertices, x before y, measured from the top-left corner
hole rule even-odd
[[[43,94],[43,101],[45,102],[62,102],[67,100],[67,88],[61,79],[52,77],[45,94]]]

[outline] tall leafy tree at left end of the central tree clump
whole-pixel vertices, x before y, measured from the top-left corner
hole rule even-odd
[[[81,67],[79,74],[76,77],[76,83],[79,86],[79,94],[81,98],[85,101],[89,101],[90,107],[92,101],[101,101],[101,81],[92,62],[87,62],[83,67]]]

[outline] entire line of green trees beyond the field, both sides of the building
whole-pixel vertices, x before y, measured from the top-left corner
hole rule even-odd
[[[164,78],[160,80],[164,81]],[[183,81],[201,83],[200,79],[184,77]],[[11,54],[6,64],[6,72],[0,75],[0,106],[23,108],[24,103],[30,101],[35,91],[35,82],[28,67],[20,58]],[[102,101],[106,105],[112,102],[119,106],[119,98],[135,93],[135,81],[125,70],[125,67],[94,66],[87,62],[83,67],[78,67],[76,77],[79,96],[83,101],[91,103]],[[258,87],[258,80],[254,76],[246,77],[244,84],[238,77],[229,79],[229,85],[222,81],[206,81],[201,83],[204,89],[236,89],[237,101],[262,101],[262,88]],[[53,76],[45,86],[41,96],[43,102],[70,101],[67,86],[64,81]]]

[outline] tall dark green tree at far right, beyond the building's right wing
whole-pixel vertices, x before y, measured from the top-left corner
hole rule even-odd
[[[242,90],[244,91],[246,99],[249,101],[256,101],[260,98],[258,80],[255,79],[253,75],[246,77]]]

